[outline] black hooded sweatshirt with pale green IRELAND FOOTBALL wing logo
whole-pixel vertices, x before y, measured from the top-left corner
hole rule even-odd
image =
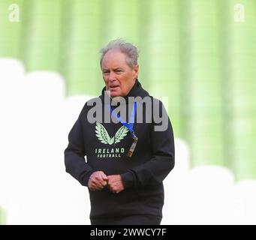
[[[124,107],[128,110],[130,105],[133,106],[134,103],[128,101],[129,97],[151,99],[152,109],[154,104],[158,104],[160,115],[167,117],[167,129],[155,130],[155,126],[161,123],[155,121],[154,112],[147,109],[143,101],[137,101],[142,106],[140,110],[143,121],[137,121],[135,117],[134,133],[138,140],[134,153],[127,157],[126,153],[133,142],[131,133],[120,122],[107,122],[105,115],[110,111],[107,109],[106,99],[110,100],[110,104],[112,102],[109,97],[105,98],[104,91],[105,88],[99,98],[86,102],[68,135],[69,143],[65,149],[66,171],[83,186],[87,186],[92,172],[98,170],[106,175],[121,175],[125,190],[120,193],[112,193],[107,187],[103,190],[89,190],[90,218],[93,220],[138,214],[162,217],[162,181],[174,166],[173,130],[164,106],[161,101],[150,97],[136,80],[125,97]],[[95,107],[96,102],[98,107]],[[100,111],[102,118],[97,118],[97,122],[92,123],[88,115],[96,109]],[[101,116],[99,112],[95,115],[97,114]],[[146,121],[146,116],[152,121]],[[128,119],[127,114],[126,121]]]

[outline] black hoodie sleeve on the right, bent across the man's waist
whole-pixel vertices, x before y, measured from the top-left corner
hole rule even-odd
[[[122,182],[127,187],[139,187],[146,184],[160,184],[161,181],[173,169],[175,162],[175,150],[173,139],[173,128],[164,105],[160,102],[160,110],[167,119],[167,129],[164,131],[156,131],[156,124],[153,121],[151,137],[152,158],[140,166],[129,169],[128,172],[122,173]],[[162,116],[163,116],[162,115]]]

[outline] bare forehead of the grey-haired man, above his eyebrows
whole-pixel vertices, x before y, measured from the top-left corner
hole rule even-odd
[[[127,65],[125,61],[126,55],[120,52],[119,49],[112,49],[108,51],[102,59],[103,68],[117,68]]]

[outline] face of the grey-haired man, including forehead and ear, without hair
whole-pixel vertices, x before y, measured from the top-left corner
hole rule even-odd
[[[133,69],[125,62],[126,55],[118,49],[112,49],[104,55],[102,60],[102,76],[106,89],[111,97],[128,95],[138,76],[136,65]]]

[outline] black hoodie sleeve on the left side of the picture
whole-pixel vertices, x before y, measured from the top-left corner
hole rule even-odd
[[[83,110],[68,134],[68,147],[64,151],[65,168],[66,172],[76,178],[80,184],[88,186],[89,177],[94,171],[85,160],[82,116]]]

